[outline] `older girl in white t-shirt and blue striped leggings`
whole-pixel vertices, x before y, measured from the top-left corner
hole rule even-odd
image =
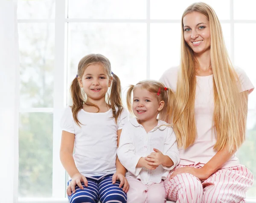
[[[120,80],[111,72],[110,61],[100,54],[82,58],[70,90],[73,105],[66,108],[61,120],[60,150],[62,165],[71,177],[68,199],[70,203],[126,203],[126,170],[116,150],[128,117]]]

